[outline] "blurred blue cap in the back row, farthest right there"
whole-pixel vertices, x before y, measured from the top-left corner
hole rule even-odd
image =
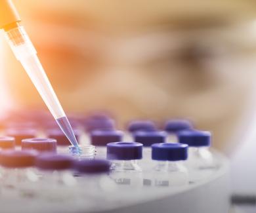
[[[190,129],[192,127],[192,123],[184,119],[172,119],[165,123],[166,132],[179,132],[181,130]]]

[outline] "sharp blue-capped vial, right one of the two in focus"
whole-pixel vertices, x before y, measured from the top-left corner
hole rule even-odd
[[[188,171],[183,165],[187,157],[188,145],[186,144],[153,144],[154,168],[145,174],[144,186],[175,187],[188,184]]]

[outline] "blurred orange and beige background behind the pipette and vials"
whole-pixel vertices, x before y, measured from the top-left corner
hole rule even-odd
[[[246,175],[256,148],[255,1],[14,4],[64,110],[110,111],[120,126],[135,118],[190,119],[211,130],[213,146],[232,159],[234,191],[256,192],[249,184],[256,171]],[[45,107],[0,45],[3,114]]]

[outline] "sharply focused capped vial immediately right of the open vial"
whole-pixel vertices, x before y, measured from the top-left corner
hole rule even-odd
[[[107,144],[107,159],[112,161],[110,177],[118,185],[142,186],[142,169],[137,161],[142,159],[142,144],[114,142]]]

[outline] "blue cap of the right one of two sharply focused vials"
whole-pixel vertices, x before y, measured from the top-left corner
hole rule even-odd
[[[188,158],[188,145],[162,143],[152,145],[152,159],[156,161],[184,161]]]

